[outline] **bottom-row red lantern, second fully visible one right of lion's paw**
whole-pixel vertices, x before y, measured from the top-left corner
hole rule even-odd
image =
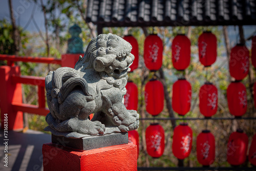
[[[189,156],[192,147],[193,132],[187,123],[181,123],[174,129],[173,153],[178,159],[185,159]]]

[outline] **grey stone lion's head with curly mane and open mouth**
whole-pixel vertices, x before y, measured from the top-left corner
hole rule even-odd
[[[123,78],[130,71],[129,67],[134,60],[131,50],[131,44],[121,37],[111,33],[100,34],[90,41],[75,69],[81,72],[94,69],[116,79]]]

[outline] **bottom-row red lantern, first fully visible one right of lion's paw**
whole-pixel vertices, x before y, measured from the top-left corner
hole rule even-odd
[[[146,151],[148,155],[158,158],[164,151],[164,130],[158,123],[152,123],[146,129]]]

